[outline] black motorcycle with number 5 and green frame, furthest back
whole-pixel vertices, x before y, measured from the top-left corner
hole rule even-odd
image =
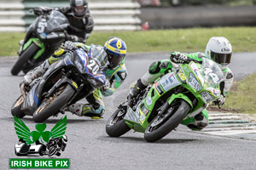
[[[26,37],[20,42],[19,59],[11,70],[12,75],[32,70],[67,39],[69,22],[64,14],[47,7],[34,8],[31,12],[38,18],[29,26]]]

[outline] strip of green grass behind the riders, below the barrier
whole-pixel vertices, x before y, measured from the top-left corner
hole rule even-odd
[[[88,43],[104,45],[109,37],[125,40],[128,53],[155,51],[204,52],[210,37],[227,37],[236,52],[256,51],[256,27],[217,27],[160,31],[94,31]],[[0,56],[13,56],[24,33],[0,33]]]

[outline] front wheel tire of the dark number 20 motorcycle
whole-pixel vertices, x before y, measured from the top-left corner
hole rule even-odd
[[[59,92],[56,92],[57,90]],[[38,106],[38,109],[33,113],[34,122],[44,122],[49,116],[55,116],[75,93],[70,84],[63,84],[57,90],[55,90],[55,96],[44,99]]]

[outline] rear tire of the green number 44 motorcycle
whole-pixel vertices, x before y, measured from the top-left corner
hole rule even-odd
[[[106,132],[110,137],[119,137],[131,130],[131,128],[125,123],[124,117],[118,116],[119,111],[121,111],[121,109],[115,111],[108,119]]]

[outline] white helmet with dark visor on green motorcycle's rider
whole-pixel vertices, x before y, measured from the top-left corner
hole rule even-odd
[[[232,47],[225,37],[211,37],[207,43],[206,54],[208,59],[212,59],[221,67],[226,69],[230,64]]]

